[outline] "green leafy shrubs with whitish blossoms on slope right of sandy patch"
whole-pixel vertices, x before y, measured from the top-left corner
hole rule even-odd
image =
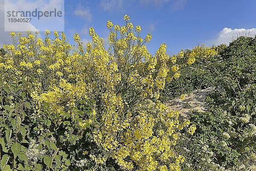
[[[206,99],[209,112],[189,115],[197,129],[195,136],[180,139],[178,151],[186,157],[183,170],[255,171],[256,39],[240,37],[214,48],[218,55],[207,58],[210,62],[203,58],[191,66],[205,74],[202,85],[215,91]],[[197,83],[187,86],[195,88]]]

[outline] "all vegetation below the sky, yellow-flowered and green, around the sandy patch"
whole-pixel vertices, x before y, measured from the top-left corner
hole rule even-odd
[[[125,15],[84,47],[11,32],[0,49],[1,171],[256,171],[256,37],[151,55]],[[52,35],[52,38],[50,37]],[[213,87],[208,112],[163,102]]]

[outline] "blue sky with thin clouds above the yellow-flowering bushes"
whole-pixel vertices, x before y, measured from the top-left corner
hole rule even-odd
[[[90,41],[90,26],[107,40],[107,20],[122,25],[125,14],[141,26],[142,35],[151,33],[151,53],[163,42],[169,54],[177,54],[198,43],[218,45],[233,35],[256,34],[256,0],[65,0],[64,8],[64,31],[72,44],[76,32],[84,43]]]

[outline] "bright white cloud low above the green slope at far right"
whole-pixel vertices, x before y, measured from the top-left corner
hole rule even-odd
[[[209,41],[208,44],[212,44],[212,45],[219,45],[221,43],[224,44],[228,44],[231,41],[235,40],[236,38],[240,37],[240,36],[248,36],[248,37],[253,37],[254,35],[256,35],[256,29],[252,28],[252,29],[231,29],[231,28],[227,28],[225,27],[224,29],[222,29],[217,37],[212,40]]]

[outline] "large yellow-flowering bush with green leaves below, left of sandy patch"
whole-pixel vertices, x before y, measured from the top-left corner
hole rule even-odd
[[[174,148],[189,121],[159,100],[180,74],[164,43],[149,54],[151,35],[124,20],[108,20],[108,50],[93,28],[85,49],[78,34],[71,46],[63,32],[10,33],[0,56],[0,170],[180,171]]]

